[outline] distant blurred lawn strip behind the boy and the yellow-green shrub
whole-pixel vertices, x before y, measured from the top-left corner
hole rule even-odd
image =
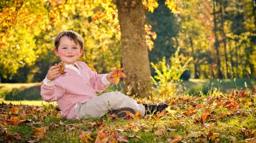
[[[247,87],[245,87],[245,83]],[[181,83],[186,90],[183,91],[189,95],[207,94],[209,91],[220,91],[222,93],[231,93],[234,89],[243,89],[251,91],[253,85],[256,85],[255,79],[190,79]],[[40,85],[42,83],[1,83],[0,101],[15,104],[42,105],[45,104],[40,96]],[[109,91],[114,90],[110,87]],[[32,102],[33,101],[33,102]]]

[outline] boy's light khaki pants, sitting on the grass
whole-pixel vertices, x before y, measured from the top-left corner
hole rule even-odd
[[[81,118],[96,119],[105,115],[109,110],[120,109],[122,107],[130,107],[135,112],[140,111],[142,117],[146,113],[146,109],[142,104],[137,104],[134,99],[120,92],[104,93],[90,99],[86,103],[77,103],[75,113]]]

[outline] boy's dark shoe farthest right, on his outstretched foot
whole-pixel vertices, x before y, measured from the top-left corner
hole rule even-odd
[[[156,114],[158,111],[163,111],[168,107],[166,103],[159,103],[159,104],[143,104],[146,109],[146,115],[150,115],[152,113]]]

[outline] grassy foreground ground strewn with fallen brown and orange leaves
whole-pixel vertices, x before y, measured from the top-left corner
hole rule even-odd
[[[169,107],[156,115],[106,115],[99,120],[65,120],[53,105],[1,103],[0,141],[256,142],[255,91],[171,97],[164,102]]]

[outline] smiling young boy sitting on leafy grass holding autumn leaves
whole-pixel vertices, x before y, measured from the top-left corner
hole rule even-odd
[[[51,66],[41,86],[40,94],[44,101],[57,101],[63,117],[99,118],[105,113],[118,113],[123,110],[131,113],[140,111],[141,116],[146,114],[149,105],[145,107],[137,104],[134,99],[120,92],[96,95],[96,92],[104,91],[110,83],[115,83],[115,80],[111,78],[113,73],[100,75],[92,71],[85,62],[77,61],[84,52],[84,40],[79,34],[73,31],[59,33],[55,38],[54,51],[65,64],[66,73],[61,75],[58,66]],[[158,111],[167,105],[162,106],[162,109],[153,107]]]

